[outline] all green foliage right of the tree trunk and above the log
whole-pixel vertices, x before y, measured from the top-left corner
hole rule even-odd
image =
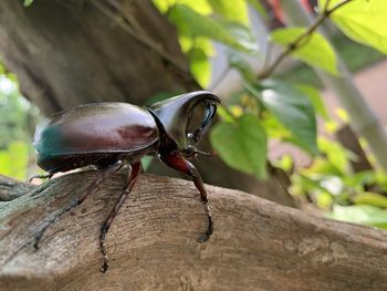
[[[322,13],[325,1],[318,1]],[[332,0],[330,8],[339,2]],[[243,89],[223,102],[219,108],[221,121],[210,133],[212,146],[230,167],[264,178],[268,175],[268,139],[292,143],[313,157],[308,168],[295,169],[292,176],[295,196],[312,201],[332,218],[386,226],[387,175],[380,170],[353,173],[351,160],[356,159],[353,153],[334,141],[317,138],[316,115],[326,122],[331,132],[337,125],[327,115],[316,89],[318,81],[310,77],[314,75],[313,71],[303,70],[307,74],[305,82],[300,82],[303,80],[300,75],[262,80],[250,66],[248,54],[266,58],[260,55],[248,13],[248,9],[252,9],[265,19],[264,9],[253,4],[259,1],[154,0],[154,3],[176,25],[190,70],[202,86],[210,79],[209,58],[216,53],[213,41],[228,46],[228,67],[237,70],[243,79]],[[353,1],[330,18],[352,40],[386,52],[387,34],[380,29],[387,21],[386,3]],[[304,67],[308,65],[339,75],[336,53],[330,42],[317,32],[306,34],[305,31],[305,28],[278,29],[271,32],[269,41],[287,50],[301,39],[290,51],[293,58],[303,61]],[[348,45],[343,35],[337,37],[335,43],[344,49],[344,61],[348,61],[349,69],[380,59],[380,54],[372,49]],[[294,74],[293,70],[291,74]],[[294,170],[290,156],[275,164],[289,173]]]

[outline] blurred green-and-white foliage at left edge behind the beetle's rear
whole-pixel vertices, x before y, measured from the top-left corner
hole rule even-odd
[[[0,116],[0,174],[25,179],[39,111],[20,94],[15,76],[1,64]]]

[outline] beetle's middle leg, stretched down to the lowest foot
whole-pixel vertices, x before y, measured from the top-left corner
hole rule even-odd
[[[103,224],[103,226],[101,228],[100,246],[101,246],[102,256],[104,257],[104,262],[103,262],[100,271],[103,273],[106,272],[108,269],[108,258],[107,258],[106,246],[105,246],[107,230],[109,229],[111,225],[113,224],[113,221],[114,221],[116,215],[118,214],[119,208],[123,206],[125,199],[127,198],[127,196],[132,191],[132,188],[135,185],[138,175],[140,174],[142,164],[136,163],[136,164],[132,165],[132,167],[129,165],[128,168],[129,168],[129,175],[128,175],[127,181],[124,186],[123,193],[121,194],[118,200],[114,205],[111,214],[108,215],[107,219],[105,220],[105,222]]]

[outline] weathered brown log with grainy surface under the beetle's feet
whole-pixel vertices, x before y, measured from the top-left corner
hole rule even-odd
[[[215,233],[201,245],[207,219],[192,183],[148,175],[108,232],[107,273],[98,232],[124,173],[56,220],[35,251],[42,221],[95,175],[70,174],[0,204],[1,290],[386,290],[386,231],[207,186]]]

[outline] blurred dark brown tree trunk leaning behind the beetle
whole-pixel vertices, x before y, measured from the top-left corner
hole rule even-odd
[[[45,114],[87,102],[143,104],[156,93],[199,89],[175,28],[150,1],[34,0],[28,8],[22,2],[0,1],[0,55]],[[198,167],[208,183],[294,206],[279,169],[258,181],[218,158]]]

